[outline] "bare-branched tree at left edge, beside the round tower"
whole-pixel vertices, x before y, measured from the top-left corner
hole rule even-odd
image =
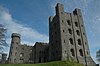
[[[7,29],[0,24],[0,60],[2,58],[2,53],[4,52],[4,49],[8,47],[8,44],[6,43],[6,33]]]

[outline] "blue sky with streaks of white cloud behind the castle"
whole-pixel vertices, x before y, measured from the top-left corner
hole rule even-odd
[[[100,49],[100,0],[0,0],[0,24],[7,28],[7,43],[11,34],[21,34],[21,43],[49,42],[49,16],[55,15],[57,3],[64,11],[81,9],[89,49],[96,62],[96,51]],[[5,52],[9,53],[9,47]]]

